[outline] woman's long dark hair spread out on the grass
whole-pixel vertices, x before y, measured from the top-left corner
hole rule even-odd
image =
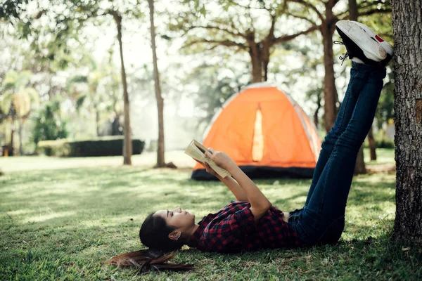
[[[130,253],[115,256],[108,264],[115,266],[136,267],[139,272],[145,272],[148,269],[153,270],[192,270],[192,264],[167,263],[172,259],[183,243],[170,240],[169,234],[174,230],[167,226],[165,219],[160,216],[150,214],[143,221],[139,230],[141,243],[150,249],[132,251]],[[171,252],[165,254],[165,252]]]

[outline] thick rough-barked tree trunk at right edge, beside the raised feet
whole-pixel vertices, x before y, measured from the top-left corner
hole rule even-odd
[[[396,215],[393,237],[422,243],[422,1],[392,1]]]

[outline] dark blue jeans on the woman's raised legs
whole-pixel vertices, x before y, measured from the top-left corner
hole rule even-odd
[[[384,77],[385,68],[352,62],[345,98],[321,145],[305,206],[290,213],[288,223],[300,244],[332,244],[343,233],[357,153],[371,129]]]

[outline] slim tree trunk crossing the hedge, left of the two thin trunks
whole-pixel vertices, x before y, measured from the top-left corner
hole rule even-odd
[[[132,136],[130,129],[130,115],[129,115],[129,95],[127,94],[127,81],[126,71],[124,70],[123,61],[123,46],[122,46],[122,16],[118,15],[117,12],[111,11],[116,25],[117,25],[117,39],[119,40],[120,47],[120,63],[122,67],[122,83],[123,83],[123,100],[124,100],[124,141],[123,141],[123,164],[132,165]]]

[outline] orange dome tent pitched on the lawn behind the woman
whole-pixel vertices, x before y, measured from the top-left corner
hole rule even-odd
[[[311,178],[321,148],[314,124],[298,103],[266,82],[231,96],[204,136],[205,147],[226,152],[251,178]],[[200,164],[192,178],[215,179]]]

